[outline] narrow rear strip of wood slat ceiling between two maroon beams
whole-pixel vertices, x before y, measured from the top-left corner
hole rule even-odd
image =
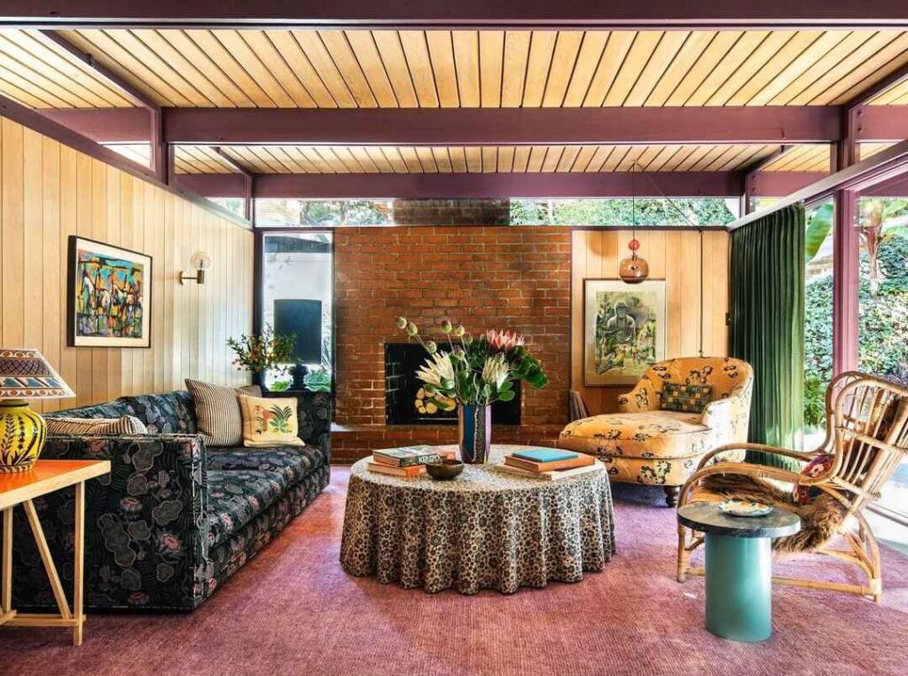
[[[828,146],[826,155],[828,159]],[[222,146],[256,174],[451,174],[734,171],[777,152],[777,145]],[[181,174],[229,174],[212,148],[179,145]]]

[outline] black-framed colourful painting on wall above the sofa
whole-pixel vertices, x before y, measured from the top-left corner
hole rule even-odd
[[[152,266],[153,259],[148,254],[70,235],[66,344],[69,347],[150,348]],[[100,293],[98,287],[106,293]],[[99,304],[100,313],[97,311]],[[91,311],[84,312],[86,307],[91,307]]]

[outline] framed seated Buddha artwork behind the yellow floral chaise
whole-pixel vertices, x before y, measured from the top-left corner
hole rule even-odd
[[[627,304],[637,298],[630,309]],[[625,303],[625,310],[633,319],[627,331],[617,338],[607,338],[606,332],[622,331],[616,323],[618,302]],[[608,314],[608,307],[613,313]],[[583,281],[583,381],[586,387],[633,385],[640,380],[654,363],[666,358],[667,307],[666,281],[646,280],[628,284],[620,279],[584,279]],[[646,333],[637,333],[641,315],[646,317]],[[611,328],[607,328],[610,326]],[[641,339],[644,343],[640,343]],[[613,342],[620,343],[621,349]],[[611,355],[611,356],[609,356]],[[627,363],[628,355],[634,355]],[[608,363],[616,365],[609,367]]]

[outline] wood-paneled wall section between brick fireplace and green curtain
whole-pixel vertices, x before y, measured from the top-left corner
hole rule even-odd
[[[583,281],[617,279],[618,262],[627,256],[629,230],[575,230],[571,241],[571,389],[583,394],[591,413],[612,413],[617,395],[631,388],[583,384]],[[666,280],[666,358],[696,356],[700,343],[700,234],[696,231],[637,230],[639,254],[649,263],[650,279]],[[728,234],[703,234],[703,351],[728,353]]]

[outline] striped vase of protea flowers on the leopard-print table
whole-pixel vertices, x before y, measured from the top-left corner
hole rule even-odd
[[[486,462],[491,445],[491,404],[514,398],[513,383],[545,387],[546,372],[526,346],[522,335],[489,331],[479,339],[449,319],[439,323],[447,346],[423,340],[419,327],[398,317],[398,328],[419,342],[429,353],[416,372],[425,391],[440,409],[458,409],[460,457],[464,462]]]

